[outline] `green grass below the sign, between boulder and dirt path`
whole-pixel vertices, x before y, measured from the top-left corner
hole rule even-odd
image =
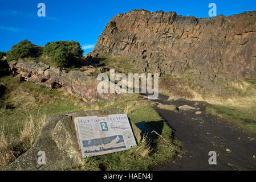
[[[168,140],[168,134],[162,136]],[[155,140],[155,146],[152,143],[140,142],[137,147],[132,147],[127,151],[86,158],[81,166],[71,168],[71,170],[149,170],[157,164],[172,160],[173,156],[177,154],[173,144],[175,142],[170,146],[161,139]]]

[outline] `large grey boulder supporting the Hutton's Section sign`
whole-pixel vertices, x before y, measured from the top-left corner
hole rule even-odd
[[[11,163],[7,170],[60,170],[79,166],[83,160],[75,133],[74,118],[121,113],[124,112],[112,108],[52,115],[42,127],[32,147]],[[135,138],[140,141],[140,129],[135,124],[131,124]],[[42,155],[38,153],[39,151],[45,153],[45,164],[38,164],[38,158]]]

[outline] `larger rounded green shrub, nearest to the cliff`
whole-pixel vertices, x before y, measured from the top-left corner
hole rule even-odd
[[[79,63],[83,49],[76,41],[56,41],[47,43],[43,53],[50,57],[51,65],[69,67]]]

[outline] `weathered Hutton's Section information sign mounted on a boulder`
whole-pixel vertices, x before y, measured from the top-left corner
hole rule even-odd
[[[76,117],[74,122],[83,158],[137,145],[126,114]]]

